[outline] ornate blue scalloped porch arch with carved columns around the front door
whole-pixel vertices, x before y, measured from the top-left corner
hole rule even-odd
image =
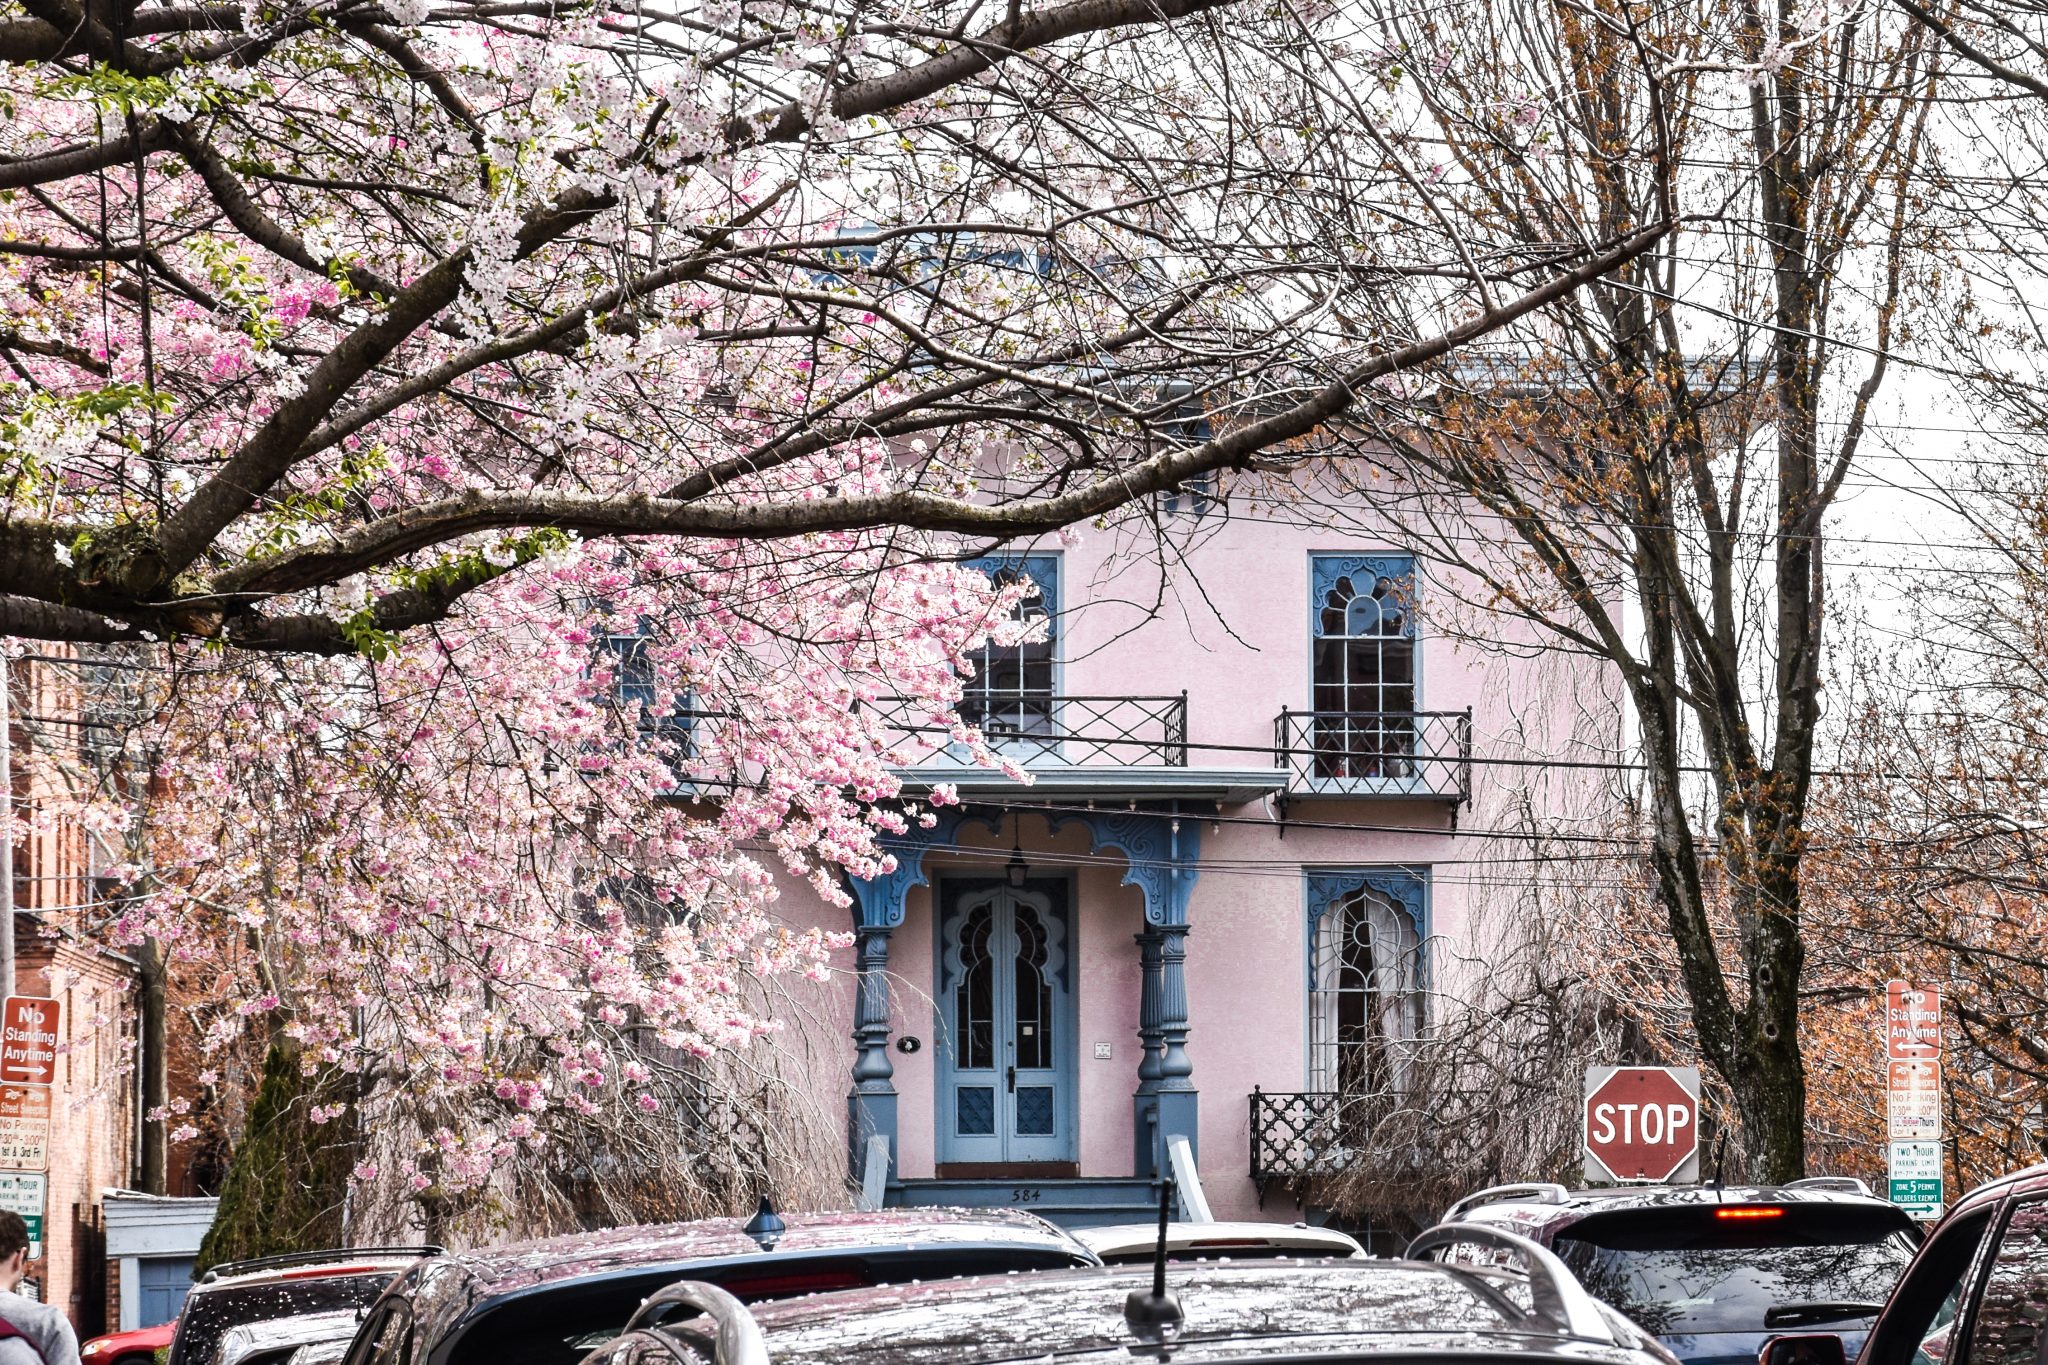
[[[928,886],[924,868],[932,849],[958,847],[969,825],[1001,833],[1012,814],[999,806],[946,806],[930,829],[911,825],[877,843],[895,868],[874,878],[848,878],[854,896],[854,1089],[848,1095],[852,1160],[860,1169],[866,1140],[889,1140],[889,1175],[897,1160],[897,1089],[889,1060],[889,935],[903,923],[913,886]],[[1124,886],[1145,898],[1145,931],[1137,935],[1143,988],[1139,999],[1139,1081],[1133,1093],[1137,1121],[1135,1166],[1157,1169],[1165,1140],[1196,1138],[1194,1062],[1188,1060],[1188,900],[1198,876],[1202,825],[1196,817],[1153,810],[1032,810],[1053,833],[1083,825],[1090,851],[1124,855]]]

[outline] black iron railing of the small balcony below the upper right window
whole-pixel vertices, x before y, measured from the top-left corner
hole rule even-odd
[[[1274,765],[1290,794],[1473,800],[1468,710],[1282,710]]]

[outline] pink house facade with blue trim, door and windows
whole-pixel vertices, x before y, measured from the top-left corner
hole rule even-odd
[[[856,937],[846,1070],[815,1085],[866,1199],[1130,1222],[1174,1173],[1186,1216],[1305,1216],[1343,1095],[1485,960],[1507,812],[1597,802],[1530,757],[1612,743],[1595,671],[1393,538],[1174,516],[1163,573],[1108,534],[985,561],[1051,620],[963,710],[1032,782],[934,739],[907,788],[961,804],[850,884],[854,923],[784,892]]]

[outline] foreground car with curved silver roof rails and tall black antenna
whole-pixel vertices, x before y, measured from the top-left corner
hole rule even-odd
[[[1649,1334],[1595,1304],[1556,1257],[1513,1234],[1489,1234],[1513,1244],[1532,1273],[1427,1261],[1204,1261],[1169,1269],[1163,1297],[1151,1267],[1108,1267],[819,1293],[758,1308],[713,1285],[682,1283],[651,1297],[586,1365],[1671,1365]],[[1503,1291],[1509,1285],[1534,1312]]]

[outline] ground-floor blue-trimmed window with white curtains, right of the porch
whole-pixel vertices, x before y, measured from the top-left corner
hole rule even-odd
[[[1411,868],[1311,872],[1309,1089],[1386,1095],[1423,1023],[1427,880]]]

